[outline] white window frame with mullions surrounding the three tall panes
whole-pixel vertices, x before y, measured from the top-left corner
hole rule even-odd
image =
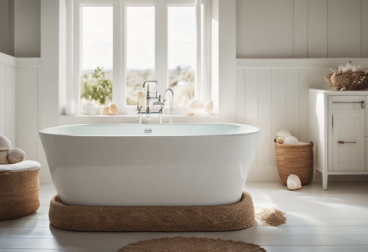
[[[211,0],[75,0],[73,13],[73,83],[67,85],[67,92],[72,92],[75,101],[75,115],[81,110],[81,66],[82,66],[82,6],[113,7],[113,93],[112,100],[119,107],[118,114],[134,115],[136,106],[126,105],[126,7],[155,6],[155,79],[159,80],[156,88],[163,94],[168,83],[168,6],[195,6],[196,17],[196,62],[195,66],[195,99],[207,102],[211,99]],[[157,57],[160,55],[159,57]],[[142,80],[143,83],[144,80]],[[185,106],[175,106],[174,114],[187,115],[190,111]],[[166,114],[169,108],[164,108]]]

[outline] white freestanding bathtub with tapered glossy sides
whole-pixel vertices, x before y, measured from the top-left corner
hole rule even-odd
[[[225,123],[68,125],[38,132],[73,206],[220,206],[240,201],[261,129]]]

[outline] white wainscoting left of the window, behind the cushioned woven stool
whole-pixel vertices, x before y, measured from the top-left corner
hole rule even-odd
[[[37,161],[39,58],[0,53],[0,134]],[[47,167],[45,167],[47,169]]]

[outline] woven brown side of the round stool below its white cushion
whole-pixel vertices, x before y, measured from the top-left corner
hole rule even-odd
[[[34,213],[40,207],[40,169],[0,172],[0,221]]]

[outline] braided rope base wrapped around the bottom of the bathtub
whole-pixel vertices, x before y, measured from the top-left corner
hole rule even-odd
[[[51,199],[50,224],[74,231],[229,231],[254,224],[252,197],[243,192],[239,203],[204,207],[68,206]]]

